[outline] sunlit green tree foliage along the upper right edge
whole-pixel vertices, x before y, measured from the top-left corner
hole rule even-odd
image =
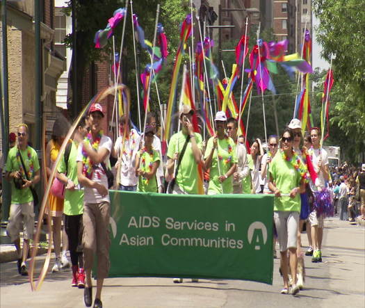
[[[318,42],[322,56],[334,70],[331,123],[339,127],[336,136],[343,140],[347,159],[361,160],[365,150],[365,2],[363,0],[316,0],[314,13],[319,19]],[[364,155],[364,154],[363,154]]]

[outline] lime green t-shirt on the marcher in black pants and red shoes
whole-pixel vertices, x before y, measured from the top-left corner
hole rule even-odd
[[[67,175],[75,186],[79,186],[79,180],[77,179],[77,147],[74,142],[71,144],[70,156],[67,163]],[[66,172],[65,153],[63,153],[60,163],[58,164],[57,171],[60,173]],[[68,216],[80,215],[83,213],[83,191],[75,189],[70,191],[66,189],[65,200],[63,202],[63,213]]]

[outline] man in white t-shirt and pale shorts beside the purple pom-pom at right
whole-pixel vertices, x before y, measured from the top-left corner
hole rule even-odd
[[[318,189],[325,188],[325,181],[329,181],[330,176],[328,172],[328,155],[325,149],[320,145],[320,129],[312,127],[311,129],[311,142],[312,147],[309,149],[309,155],[311,162],[313,163],[314,170],[318,175],[318,183],[311,181],[311,190],[316,192]],[[312,262],[322,261],[322,239],[323,239],[323,215],[318,216],[317,211],[313,210],[309,214],[309,221],[311,222],[311,241],[314,246]]]

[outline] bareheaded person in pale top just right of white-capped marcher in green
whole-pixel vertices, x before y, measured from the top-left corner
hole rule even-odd
[[[243,143],[237,143],[238,122],[234,117],[227,121],[228,136],[236,144],[237,170],[233,174],[233,193],[250,193],[251,177],[248,166],[247,151]]]

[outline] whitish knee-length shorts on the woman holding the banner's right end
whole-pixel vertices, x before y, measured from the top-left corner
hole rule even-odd
[[[280,251],[297,247],[299,213],[294,211],[275,211],[274,222]]]

